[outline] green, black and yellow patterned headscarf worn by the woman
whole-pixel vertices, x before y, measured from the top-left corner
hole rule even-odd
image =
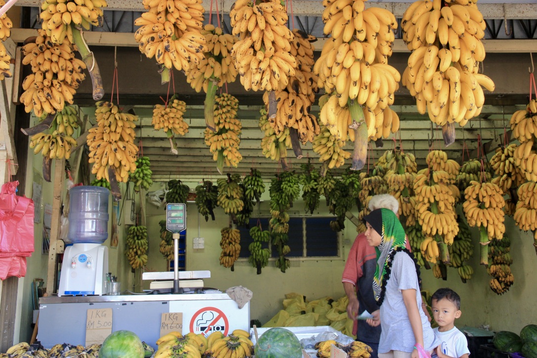
[[[401,222],[395,216],[394,212],[389,209],[376,209],[364,217],[364,221],[382,237],[380,245],[375,247],[377,266],[373,278],[373,293],[375,300],[379,305],[384,299],[384,286],[389,279],[391,261],[398,251],[406,251],[413,259],[413,255],[406,249],[406,235]],[[381,231],[379,232],[379,229]],[[419,272],[418,272],[419,277]]]

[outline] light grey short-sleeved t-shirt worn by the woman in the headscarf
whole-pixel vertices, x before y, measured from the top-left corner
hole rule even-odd
[[[397,252],[391,265],[391,274],[386,283],[386,294],[380,306],[380,335],[379,353],[390,350],[400,350],[410,353],[416,344],[414,332],[410,325],[407,308],[404,305],[401,290],[415,289],[419,314],[422,317],[423,342],[425,350],[438,346],[433,330],[422,310],[422,295],[419,292],[418,275],[414,261],[405,252]]]

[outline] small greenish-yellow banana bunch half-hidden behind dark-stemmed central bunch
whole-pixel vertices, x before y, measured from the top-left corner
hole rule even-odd
[[[265,106],[269,103],[265,100]],[[264,132],[263,138],[261,138],[261,149],[265,158],[271,158],[272,160],[287,160],[287,149],[291,148],[291,135],[289,134],[289,128],[284,128],[278,134],[274,128],[272,128],[269,119],[267,118],[267,111],[265,108],[259,109],[261,117],[259,118],[259,127]],[[287,166],[287,162],[285,165]]]

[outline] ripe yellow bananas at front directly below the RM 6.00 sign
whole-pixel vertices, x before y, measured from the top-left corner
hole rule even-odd
[[[157,340],[158,349],[154,358],[184,357],[201,358],[202,350],[207,346],[203,334],[170,332]]]

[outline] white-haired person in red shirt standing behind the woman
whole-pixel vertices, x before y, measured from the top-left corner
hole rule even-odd
[[[394,212],[399,217],[399,202],[390,194],[375,195],[369,200],[370,211],[385,208]],[[407,248],[409,248],[407,240]],[[379,310],[379,306],[373,294],[373,277],[376,269],[376,251],[369,246],[364,233],[360,233],[349,251],[349,257],[343,270],[343,288],[349,297],[347,315],[354,320],[353,334],[357,340],[364,342],[373,348],[372,358],[378,357],[381,327],[371,327],[367,324],[358,324],[358,316],[365,311],[372,313]]]

